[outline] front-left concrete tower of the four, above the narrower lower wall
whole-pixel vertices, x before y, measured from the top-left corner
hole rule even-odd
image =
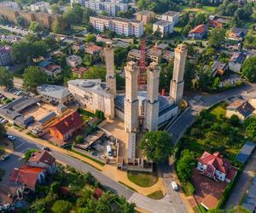
[[[136,62],[129,61],[125,66],[125,131],[136,132],[138,126]]]

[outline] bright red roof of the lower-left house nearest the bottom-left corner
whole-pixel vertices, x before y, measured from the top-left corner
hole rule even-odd
[[[26,187],[34,188],[38,181],[38,175],[44,170],[43,168],[24,164],[19,169],[13,170],[9,176],[9,181],[19,182],[25,184]]]

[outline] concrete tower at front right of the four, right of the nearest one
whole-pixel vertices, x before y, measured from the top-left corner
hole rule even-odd
[[[154,131],[158,129],[159,112],[159,78],[160,66],[152,62],[147,68],[147,99],[145,109],[144,129]]]

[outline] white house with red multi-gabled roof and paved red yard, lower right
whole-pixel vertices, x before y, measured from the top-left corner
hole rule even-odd
[[[197,170],[202,175],[212,178],[215,181],[230,182],[236,176],[237,170],[229,160],[224,159],[219,152],[207,153],[206,151],[198,158]]]

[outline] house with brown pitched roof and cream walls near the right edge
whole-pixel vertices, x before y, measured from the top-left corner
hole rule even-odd
[[[226,107],[226,117],[231,118],[232,115],[237,115],[238,118],[243,121],[250,117],[255,108],[245,100],[236,100]]]

